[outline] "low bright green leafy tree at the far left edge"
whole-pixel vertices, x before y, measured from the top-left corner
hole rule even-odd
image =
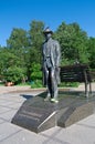
[[[21,82],[25,78],[25,68],[20,66],[20,59],[4,48],[0,50],[0,75],[4,81]]]

